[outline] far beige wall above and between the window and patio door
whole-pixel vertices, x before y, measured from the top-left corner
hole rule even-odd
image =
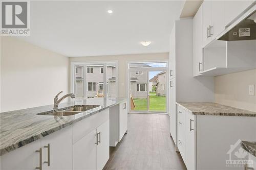
[[[116,56],[92,56],[92,57],[71,57],[70,62],[74,61],[118,61],[118,95],[119,98],[126,97],[126,72],[127,61],[152,61],[152,60],[166,60],[168,61],[168,53],[157,54],[133,54],[133,55],[116,55]]]

